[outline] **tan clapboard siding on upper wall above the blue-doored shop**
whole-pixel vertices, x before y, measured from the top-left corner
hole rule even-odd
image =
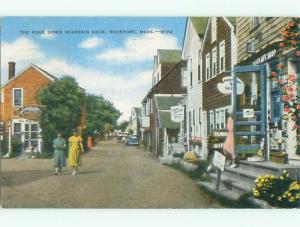
[[[251,53],[246,52],[246,44],[250,39],[254,40],[257,51],[266,45],[278,40],[280,33],[285,29],[288,17],[260,17],[260,24],[253,28],[252,17],[238,17],[237,19],[237,48],[238,63],[251,57]]]

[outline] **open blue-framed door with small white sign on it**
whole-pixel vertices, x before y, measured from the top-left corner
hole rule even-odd
[[[266,150],[266,75],[264,65],[233,70],[234,143],[237,154]],[[264,156],[267,152],[264,152]]]

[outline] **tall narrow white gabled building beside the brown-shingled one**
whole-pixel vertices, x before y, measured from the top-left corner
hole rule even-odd
[[[181,122],[181,142],[200,157],[202,152],[202,74],[200,50],[208,17],[187,18],[182,48],[182,60],[186,61],[183,75],[187,81],[187,96],[181,105],[186,110],[185,120]]]

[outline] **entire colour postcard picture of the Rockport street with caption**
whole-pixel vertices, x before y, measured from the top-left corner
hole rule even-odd
[[[4,17],[3,208],[299,208],[300,18]]]

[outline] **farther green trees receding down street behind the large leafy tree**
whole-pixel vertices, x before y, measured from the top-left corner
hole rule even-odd
[[[121,116],[114,105],[102,96],[87,95],[87,132],[94,135],[95,130],[111,132],[116,127],[117,120]]]

